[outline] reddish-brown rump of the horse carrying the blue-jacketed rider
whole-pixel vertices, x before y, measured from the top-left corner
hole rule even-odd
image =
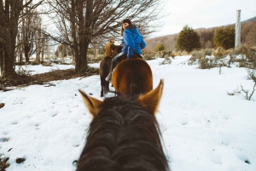
[[[125,96],[148,93],[153,89],[151,68],[141,58],[122,60],[113,71],[112,83]]]

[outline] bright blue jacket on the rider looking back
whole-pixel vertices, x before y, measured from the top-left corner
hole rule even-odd
[[[142,49],[146,47],[143,36],[134,25],[128,26],[123,32],[122,54],[127,54],[127,58],[132,58],[133,53],[143,54]]]

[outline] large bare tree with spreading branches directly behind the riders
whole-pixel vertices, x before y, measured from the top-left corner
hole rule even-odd
[[[154,31],[149,25],[158,19],[159,0],[48,0],[55,15],[58,35],[50,36],[73,48],[76,73],[87,69],[87,51],[98,37],[119,35],[120,21],[130,18],[146,36]],[[61,38],[60,38],[61,37]]]

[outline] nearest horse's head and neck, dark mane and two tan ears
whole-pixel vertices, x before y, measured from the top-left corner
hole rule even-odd
[[[93,119],[77,171],[168,171],[154,116],[162,90],[161,80],[148,94],[103,101],[79,90]]]

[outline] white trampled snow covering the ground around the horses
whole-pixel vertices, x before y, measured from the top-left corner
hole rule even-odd
[[[244,68],[201,70],[187,65],[189,57],[176,57],[171,65],[160,65],[163,59],[147,61],[154,88],[160,78],[165,83],[156,117],[172,171],[255,171],[256,95],[245,100],[244,94],[227,94],[240,85],[252,90],[253,81]],[[27,67],[32,74],[73,68]],[[7,171],[75,170],[73,161],[84,147],[91,120],[78,89],[102,99],[100,77],[51,83],[55,87],[0,92],[0,103],[5,103],[0,109],[0,154],[9,157]],[[26,161],[18,164],[18,157]]]

